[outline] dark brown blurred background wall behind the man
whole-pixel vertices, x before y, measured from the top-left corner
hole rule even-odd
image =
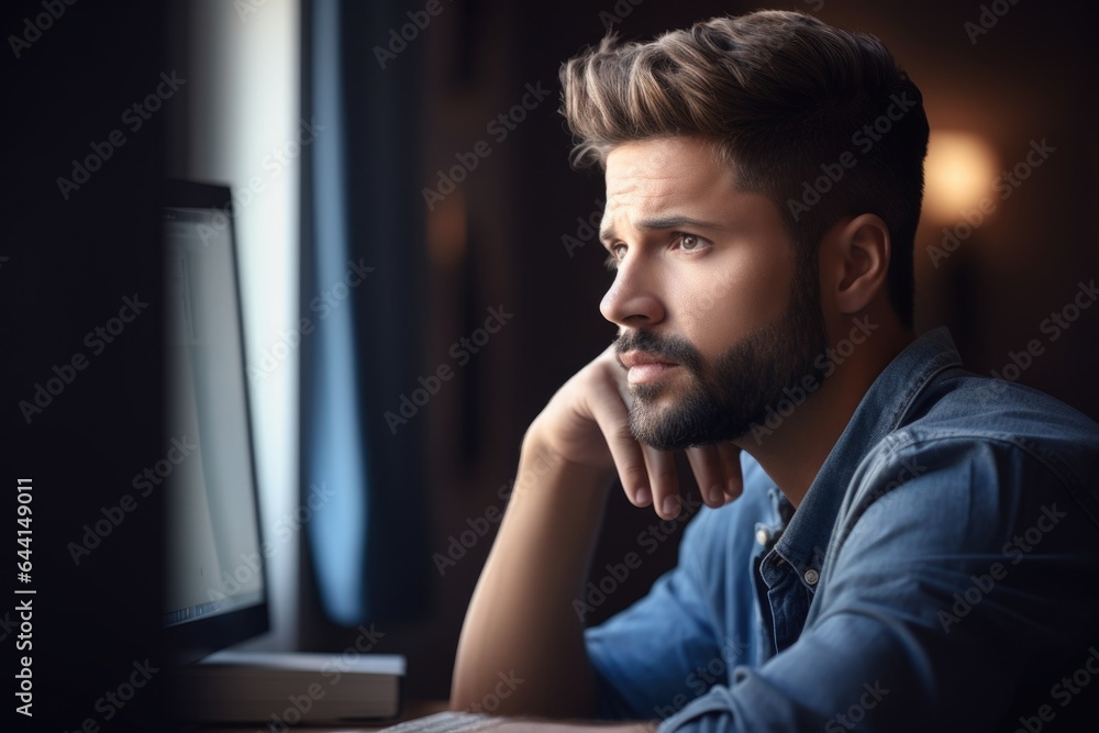
[[[941,246],[943,226],[963,222],[963,212],[922,225],[915,247],[917,329],[948,325],[967,366],[986,374],[1002,371],[1012,352],[1039,338],[1044,353],[1019,380],[1097,418],[1099,309],[1083,311],[1055,342],[1040,330],[1043,319],[1070,302],[1078,282],[1089,282],[1097,270],[1092,209],[1099,146],[1088,114],[1095,65],[1085,35],[1095,11],[1084,3],[1001,4],[1001,12],[1010,10],[1002,18],[987,16],[986,24],[989,18],[996,23],[976,35],[976,43],[965,24],[980,21],[977,2],[775,7],[880,37],[923,90],[932,130],[977,133],[1002,167],[1022,160],[1031,141],[1045,138],[1056,148],[1009,199],[997,200],[997,210],[939,267],[926,248]],[[502,304],[514,313],[426,408],[434,527],[425,552],[446,555],[452,537],[471,525],[484,527],[479,518],[503,509],[499,489],[513,478],[526,425],[554,390],[613,337],[613,326],[598,313],[611,280],[601,266],[602,251],[593,240],[571,252],[563,244],[565,235],[584,238],[578,218],[601,211],[602,181],[598,171],[569,169],[569,141],[556,111],[559,65],[596,43],[611,16],[624,37],[647,38],[756,4],[476,0],[443,8],[391,62],[423,57],[422,185],[436,188],[440,169],[449,169],[455,156],[468,154],[478,141],[490,153],[433,210],[423,204],[422,190],[406,192],[423,204],[431,263],[431,321],[422,334],[421,374],[452,363],[448,348],[482,324],[489,307]],[[370,30],[364,43],[384,37],[385,31]],[[488,125],[520,103],[526,85],[550,95],[501,140],[500,129]],[[447,695],[465,606],[495,530],[491,524],[464,557],[432,578],[434,600],[420,618],[385,629],[377,649],[409,657],[414,696]],[[659,549],[652,555],[653,543],[639,543],[639,535],[650,532],[667,537],[655,543]],[[679,526],[660,527],[651,510],[636,510],[614,492],[595,577],[630,551],[644,562],[589,620],[643,593],[674,564],[679,536]],[[354,637],[353,631],[328,624],[312,602],[306,603],[301,634],[307,648],[342,649]]]

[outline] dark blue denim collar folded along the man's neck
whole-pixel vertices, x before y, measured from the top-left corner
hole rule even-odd
[[[870,385],[775,546],[802,581],[817,582],[836,515],[863,458],[902,424],[936,374],[959,366],[950,331],[939,327],[909,344]]]

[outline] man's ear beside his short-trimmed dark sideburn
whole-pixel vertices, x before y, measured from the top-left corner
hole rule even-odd
[[[841,221],[821,243],[821,287],[841,313],[857,313],[885,292],[891,255],[889,227],[876,214]]]

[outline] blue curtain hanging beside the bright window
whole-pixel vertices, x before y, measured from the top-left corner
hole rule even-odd
[[[425,420],[384,418],[422,371],[425,314],[417,55],[374,51],[402,8],[302,1],[302,556],[342,625],[418,614],[431,571]]]

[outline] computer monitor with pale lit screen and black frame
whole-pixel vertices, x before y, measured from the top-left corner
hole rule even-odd
[[[166,413],[180,459],[163,485],[164,630],[182,664],[269,621],[231,191],[166,190]]]

